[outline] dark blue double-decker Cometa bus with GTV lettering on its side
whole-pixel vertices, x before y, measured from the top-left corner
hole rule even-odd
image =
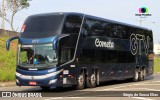
[[[18,86],[96,87],[153,74],[153,36],[146,28],[81,13],[29,16],[18,39]]]

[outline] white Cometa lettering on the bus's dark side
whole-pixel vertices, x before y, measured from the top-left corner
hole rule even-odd
[[[100,41],[98,38],[95,40],[95,45],[96,47],[114,48],[114,42]]]

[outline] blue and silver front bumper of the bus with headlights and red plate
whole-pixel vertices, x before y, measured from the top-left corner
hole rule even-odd
[[[16,84],[18,86],[59,86],[62,84],[59,75],[63,69],[41,75],[36,75],[37,73],[34,71],[32,74],[31,71],[29,72],[31,75],[24,75],[23,72],[26,74],[28,71],[16,72]]]

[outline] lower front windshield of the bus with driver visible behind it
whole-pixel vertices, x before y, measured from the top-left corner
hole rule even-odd
[[[51,67],[57,64],[52,44],[21,45],[18,55],[21,67]]]

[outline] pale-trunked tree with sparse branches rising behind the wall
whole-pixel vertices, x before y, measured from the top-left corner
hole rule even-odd
[[[5,20],[10,24],[12,31],[15,31],[13,27],[14,16],[18,11],[24,8],[28,8],[29,3],[27,0],[6,0],[6,1],[7,1],[6,4],[7,9],[12,12],[12,16],[10,19],[5,18]]]

